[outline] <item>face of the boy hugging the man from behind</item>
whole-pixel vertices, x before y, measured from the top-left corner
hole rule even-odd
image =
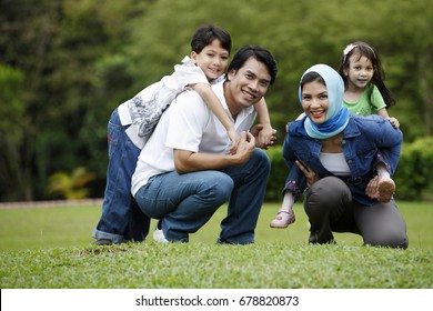
[[[211,81],[225,72],[229,64],[229,51],[223,49],[220,41],[215,39],[211,44],[204,47],[200,53],[192,51],[191,59]]]

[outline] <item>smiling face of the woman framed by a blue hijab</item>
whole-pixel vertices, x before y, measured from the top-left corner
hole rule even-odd
[[[303,84],[302,108],[314,123],[322,124],[326,120],[328,90],[322,82],[312,81]]]

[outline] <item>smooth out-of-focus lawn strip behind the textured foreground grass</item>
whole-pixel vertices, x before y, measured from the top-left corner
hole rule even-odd
[[[269,227],[278,209],[279,203],[263,205],[255,231],[255,242],[306,243],[309,223],[302,204],[295,204],[296,221],[288,229]],[[400,210],[407,223],[409,247],[433,249],[432,204],[401,202]],[[93,241],[91,234],[100,212],[99,205],[0,210],[0,251],[89,245]],[[190,235],[190,242],[214,243],[220,233],[220,222],[225,214],[226,205],[223,205],[201,230]],[[152,220],[148,240],[152,239],[154,225],[155,221]],[[362,244],[361,237],[355,234],[334,235],[339,244]]]

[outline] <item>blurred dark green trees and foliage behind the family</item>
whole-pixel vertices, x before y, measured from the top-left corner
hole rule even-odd
[[[231,33],[232,56],[243,44],[274,54],[266,102],[279,143],[301,113],[303,71],[336,69],[351,41],[373,46],[397,100],[389,113],[401,123],[403,152],[415,149],[406,172],[399,167],[415,182],[401,192],[419,199],[425,187],[429,198],[432,20],[431,0],[0,0],[0,202],[102,198],[111,112],[171,74],[202,23]]]

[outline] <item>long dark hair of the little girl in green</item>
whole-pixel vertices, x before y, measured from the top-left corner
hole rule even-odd
[[[374,74],[371,79],[370,83],[367,84],[367,100],[371,107],[376,108],[373,106],[371,97],[373,93],[373,86],[376,86],[377,90],[381,92],[381,96],[386,104],[386,108],[390,108],[391,106],[395,104],[395,99],[393,98],[391,91],[385,86],[385,72],[383,71],[381,60],[379,58],[379,54],[376,51],[367,43],[362,41],[356,41],[346,47],[348,52],[344,51],[343,58],[340,62],[339,73],[341,78],[343,78],[344,84],[348,83],[348,77],[344,76],[344,69],[346,69],[350,64],[350,57],[355,54],[356,60],[360,60],[362,57],[366,57],[371,60],[373,68],[374,68]]]

